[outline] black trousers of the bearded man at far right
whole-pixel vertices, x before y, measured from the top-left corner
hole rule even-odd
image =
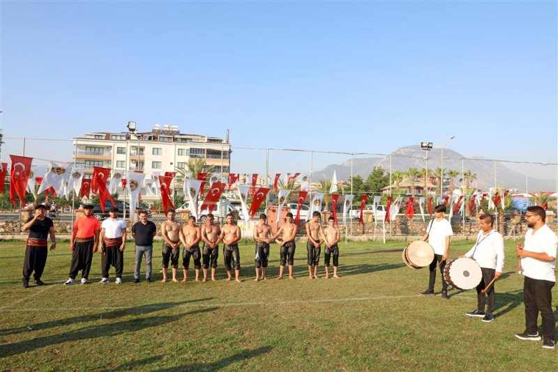
[[[552,287],[554,281],[531,279],[523,280],[523,302],[525,303],[525,329],[529,334],[538,332],[539,311],[543,319],[543,336],[554,340],[556,323],[552,313]]]

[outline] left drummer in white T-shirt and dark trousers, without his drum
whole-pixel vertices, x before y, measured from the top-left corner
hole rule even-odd
[[[440,273],[442,274],[442,298],[448,300],[448,284],[444,280],[444,268],[446,267],[446,259],[449,256],[450,236],[453,235],[451,224],[444,219],[446,206],[440,204],[434,209],[435,219],[432,219],[426,228],[426,233],[421,240],[426,241],[434,249],[434,260],[430,263],[430,278],[428,280],[428,288],[421,292],[421,295],[435,295],[434,284],[436,282],[436,266],[439,263]]]

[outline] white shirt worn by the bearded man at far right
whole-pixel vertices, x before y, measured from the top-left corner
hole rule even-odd
[[[550,230],[547,224],[544,224],[535,233],[529,228],[525,233],[525,249],[526,251],[545,253],[550,257],[554,257],[552,262],[537,260],[536,258],[523,257],[521,259],[521,267],[523,274],[531,279],[548,280],[556,282],[556,249],[558,238],[554,231]]]

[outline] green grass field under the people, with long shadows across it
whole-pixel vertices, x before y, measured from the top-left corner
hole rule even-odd
[[[112,268],[111,283],[100,286],[96,254],[94,284],[66,287],[70,251],[61,243],[47,259],[43,281],[50,285],[22,289],[23,242],[0,242],[0,370],[558,369],[558,350],[513,336],[525,327],[513,242],[506,242],[492,323],[465,316],[476,308],[474,290],[451,290],[448,301],[418,295],[428,269],[402,263],[405,244],[342,243],[341,279],[324,279],[321,265],[322,278],[309,280],[300,243],[296,280],[280,281],[278,245],[272,245],[270,280],[259,283],[253,281],[253,245],[241,245],[241,284],[223,280],[222,251],[215,283],[133,284],[129,250],[124,284],[114,284]],[[451,256],[471,245],[453,242]],[[159,280],[156,247],[153,277]],[[556,287],[553,299],[555,308]]]

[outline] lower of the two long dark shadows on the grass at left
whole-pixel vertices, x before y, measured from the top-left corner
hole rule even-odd
[[[186,316],[193,316],[195,314],[206,313],[207,311],[215,311],[218,307],[211,307],[207,309],[188,311],[186,313],[171,315],[171,316],[150,316],[147,318],[135,318],[130,320],[123,320],[116,323],[108,323],[105,325],[98,325],[92,327],[84,327],[79,330],[63,332],[61,334],[53,334],[51,336],[38,337],[17,343],[10,343],[0,346],[1,357],[9,357],[10,355],[17,355],[22,352],[29,352],[45,346],[55,345],[58,343],[82,341],[89,339],[96,339],[98,337],[112,337],[118,336],[124,332],[137,332],[151,327],[159,327],[165,324],[172,324]]]

